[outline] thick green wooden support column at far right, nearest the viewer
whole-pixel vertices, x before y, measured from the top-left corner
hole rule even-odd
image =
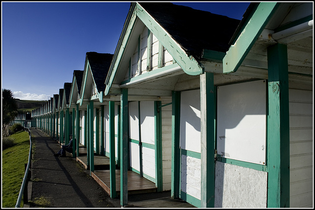
[[[290,139],[286,45],[269,46],[267,57],[267,207],[288,208],[290,207]]]

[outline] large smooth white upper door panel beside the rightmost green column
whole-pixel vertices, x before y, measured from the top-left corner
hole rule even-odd
[[[223,157],[266,163],[266,82],[217,89],[217,149]]]

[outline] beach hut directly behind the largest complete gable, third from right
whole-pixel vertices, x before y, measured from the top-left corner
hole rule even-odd
[[[87,52],[80,91],[80,106],[87,113],[87,148],[90,172],[94,171],[94,153],[105,154],[104,103],[105,79],[113,55]]]

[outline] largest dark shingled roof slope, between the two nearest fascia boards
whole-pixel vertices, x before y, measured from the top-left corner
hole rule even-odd
[[[170,2],[139,2],[178,42],[188,56],[201,58],[203,49],[228,51],[240,20]]]

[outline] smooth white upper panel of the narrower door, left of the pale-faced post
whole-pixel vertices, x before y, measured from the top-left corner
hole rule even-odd
[[[200,90],[181,92],[180,119],[181,149],[200,153]]]

